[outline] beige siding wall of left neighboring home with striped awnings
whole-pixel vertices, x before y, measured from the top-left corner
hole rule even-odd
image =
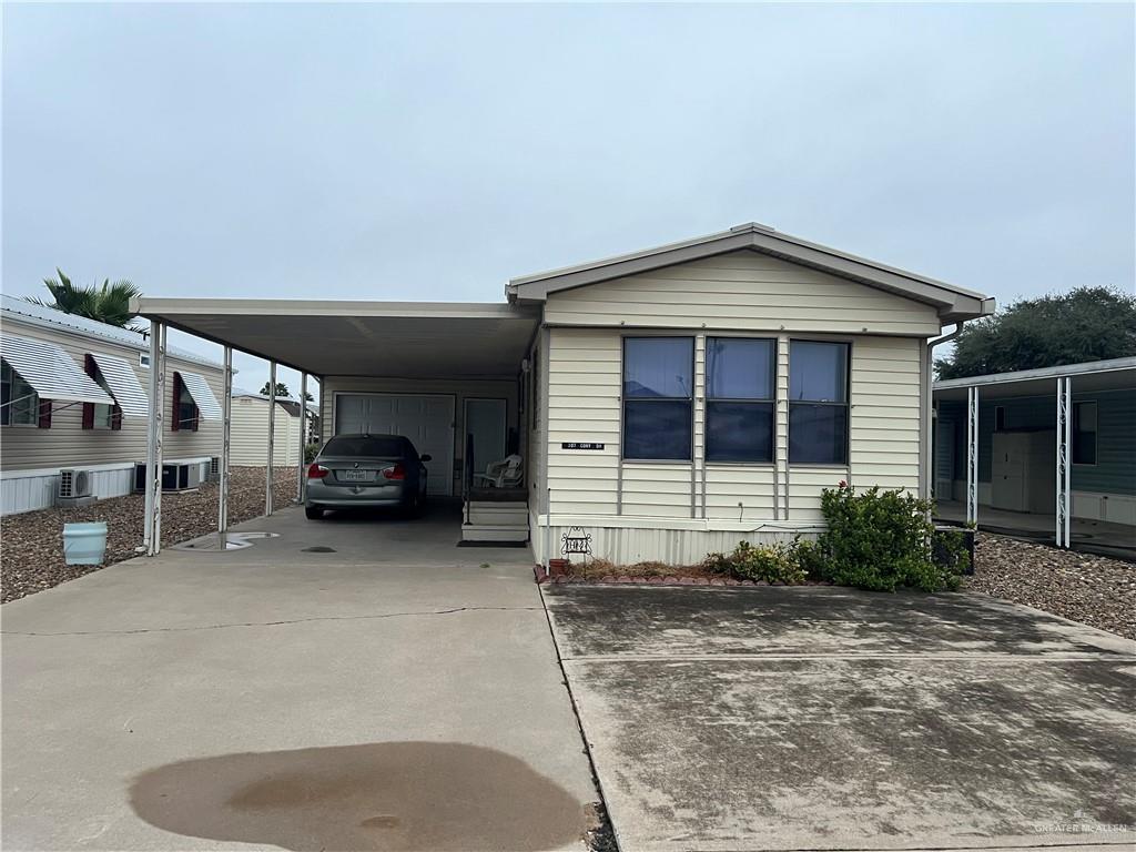
[[[139,366],[139,350],[111,341],[57,332],[35,325],[5,319],[6,334],[45,340],[59,345],[83,369],[87,352],[125,358],[134,368],[142,389],[149,393],[150,370]],[[206,367],[178,358],[166,358],[166,399],[162,400],[165,423],[162,456],[167,461],[195,459],[220,454],[220,420],[199,421],[198,432],[170,432],[173,412],[172,387],[174,370],[187,370],[204,377],[217,399],[223,398],[223,377],[219,368]],[[40,470],[68,467],[109,465],[114,462],[145,461],[147,418],[124,417],[120,429],[84,429],[83,406],[57,402],[52,407],[51,428],[34,426],[2,427],[5,474],[18,470]]]

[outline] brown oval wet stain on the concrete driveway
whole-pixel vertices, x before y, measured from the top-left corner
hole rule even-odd
[[[286,850],[532,850],[579,841],[585,807],[521,760],[463,743],[223,754],[139,775],[167,832]]]

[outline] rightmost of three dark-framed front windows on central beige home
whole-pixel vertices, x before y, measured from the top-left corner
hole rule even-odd
[[[790,342],[791,465],[847,463],[847,343]]]

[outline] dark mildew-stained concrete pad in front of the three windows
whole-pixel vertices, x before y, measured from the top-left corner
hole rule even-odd
[[[1136,643],[979,595],[544,594],[625,852],[1136,841]]]

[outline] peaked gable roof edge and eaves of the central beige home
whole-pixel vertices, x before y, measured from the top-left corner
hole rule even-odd
[[[549,294],[588,284],[598,284],[626,275],[660,269],[676,264],[725,254],[732,251],[758,251],[763,254],[808,266],[842,278],[877,287],[897,295],[932,304],[943,323],[974,319],[994,312],[994,299],[972,290],[917,275],[875,260],[849,254],[799,236],[783,234],[755,222],[737,225],[729,231],[660,245],[654,249],[619,254],[590,264],[525,275],[509,282],[509,301],[544,301]]]

